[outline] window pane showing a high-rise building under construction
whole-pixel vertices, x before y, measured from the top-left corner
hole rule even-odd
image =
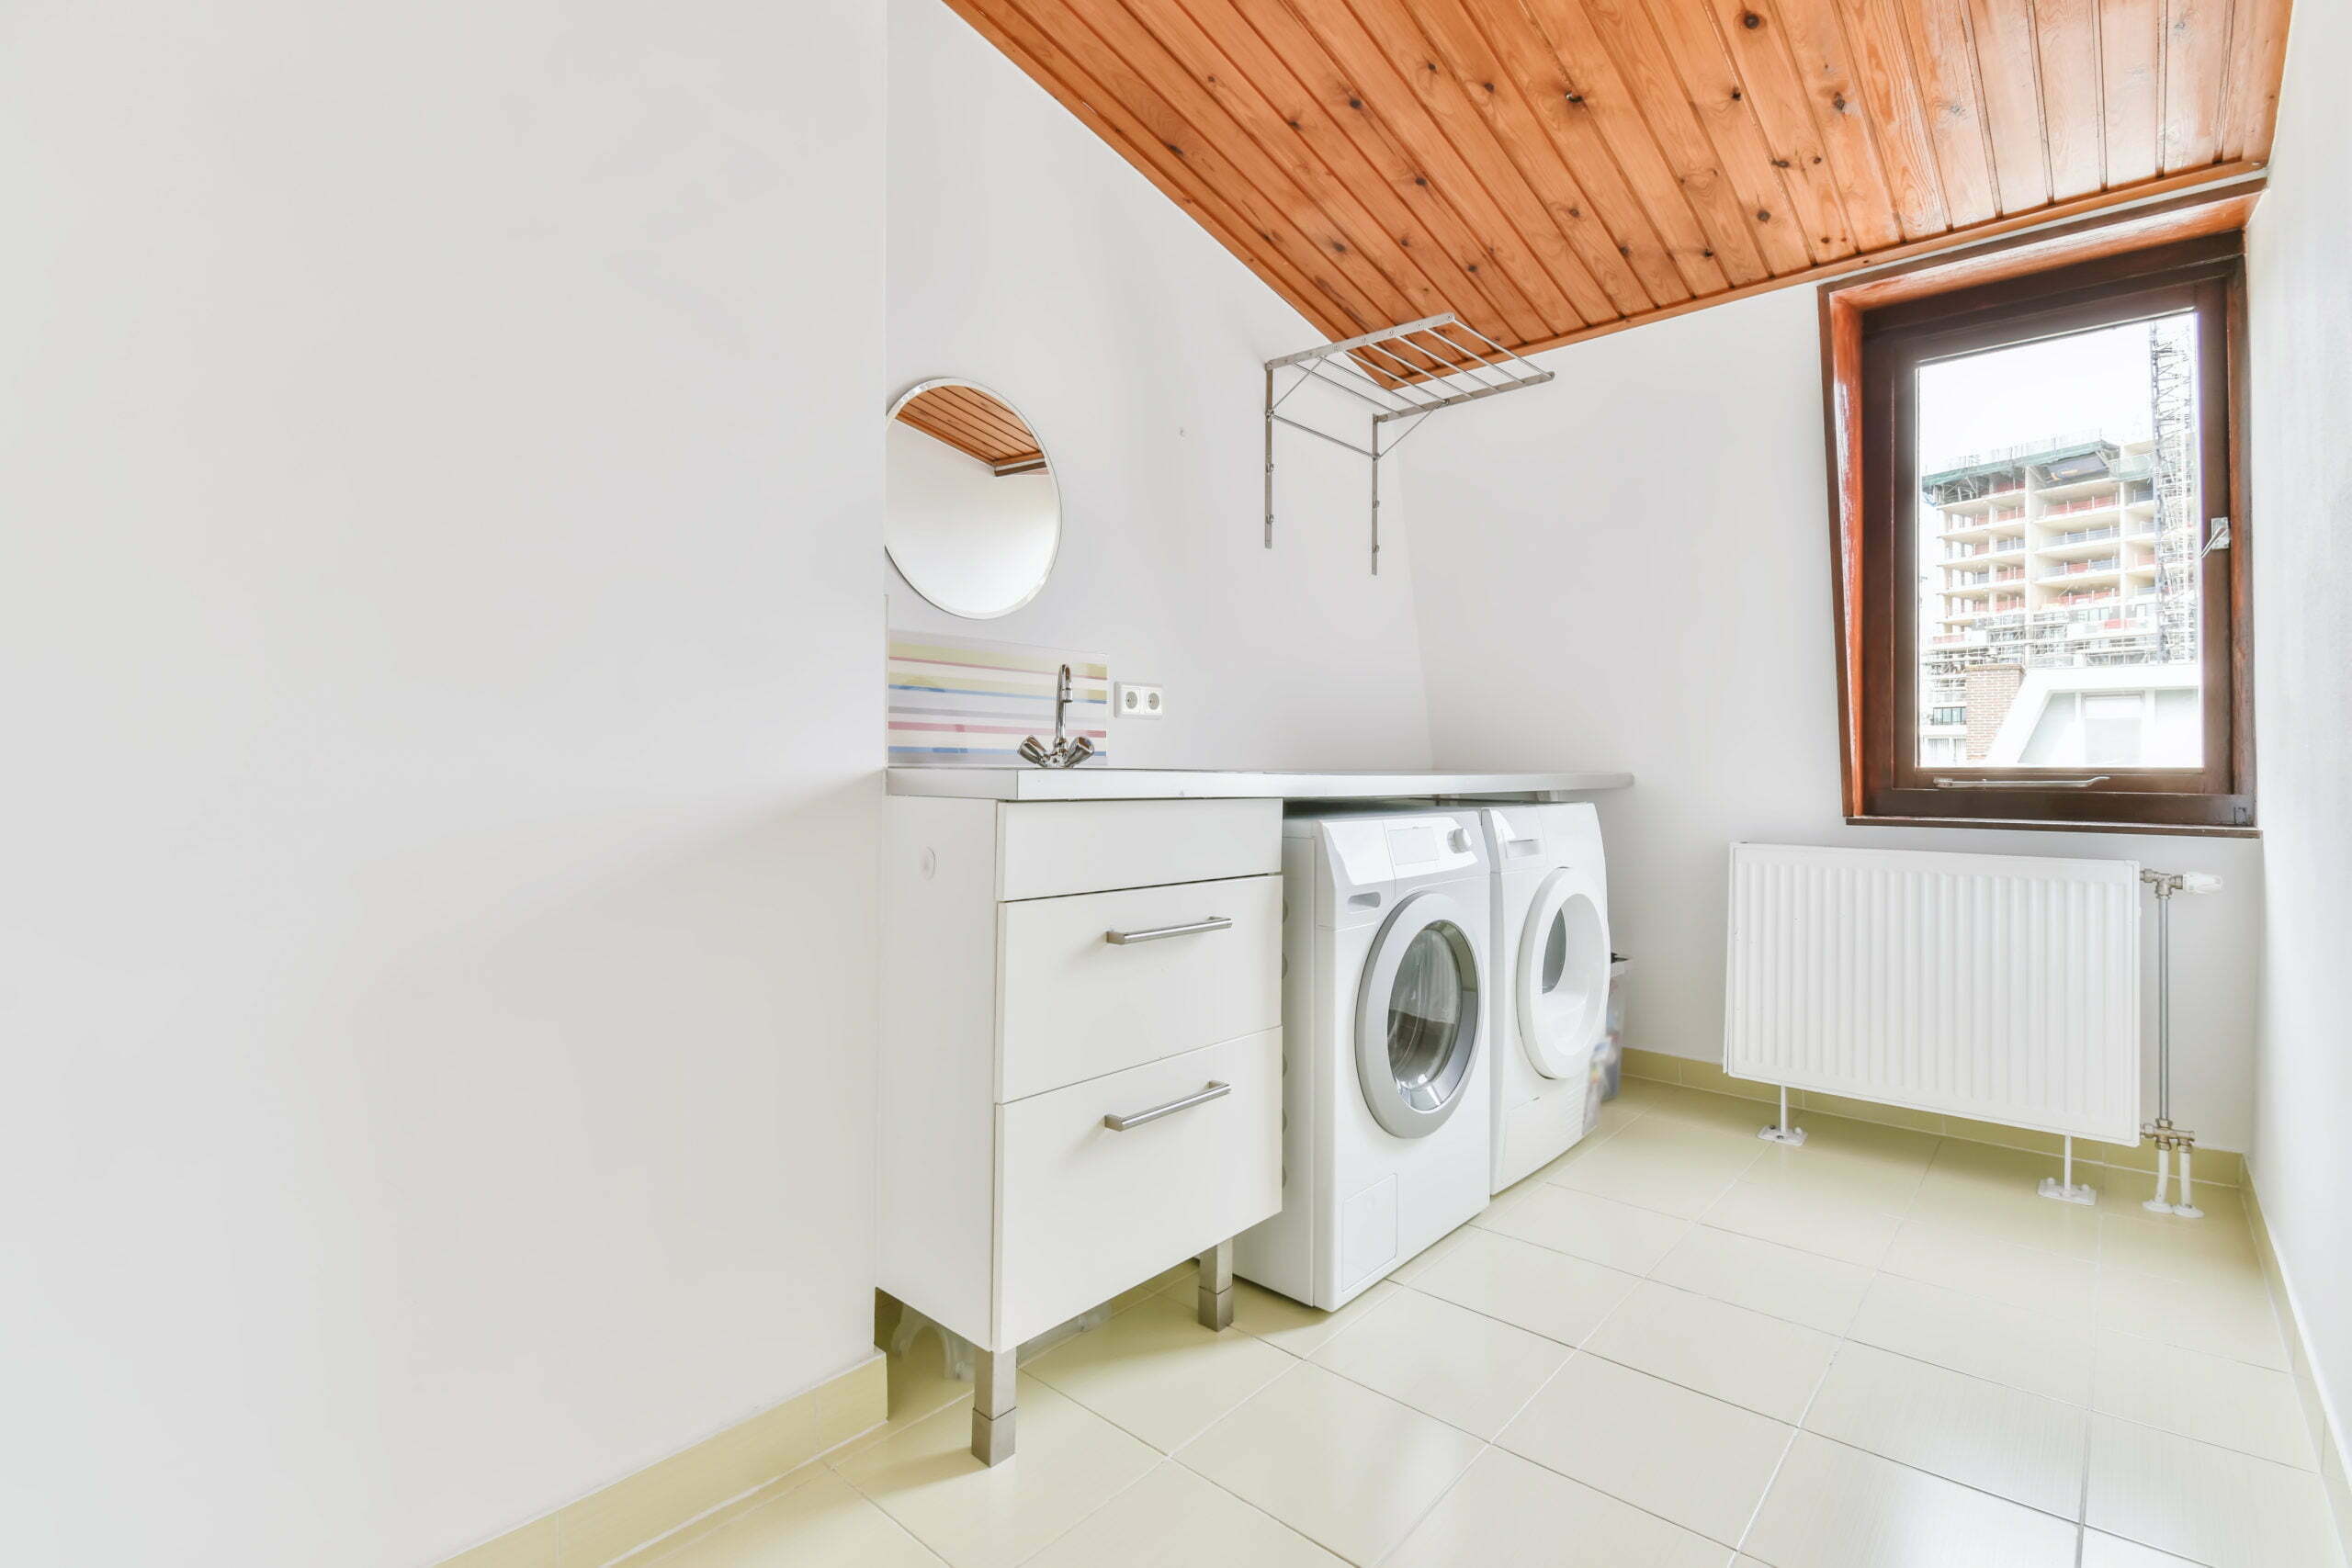
[[[1919,367],[1919,762],[2199,766],[2197,315]]]

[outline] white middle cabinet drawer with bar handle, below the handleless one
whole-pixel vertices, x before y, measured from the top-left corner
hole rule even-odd
[[[997,933],[997,1100],[1282,1023],[1282,877],[1007,903]]]

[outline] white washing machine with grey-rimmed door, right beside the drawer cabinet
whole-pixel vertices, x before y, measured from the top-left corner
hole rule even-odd
[[[1282,1211],[1232,1272],[1331,1309],[1486,1206],[1477,809],[1287,818],[1282,893]]]

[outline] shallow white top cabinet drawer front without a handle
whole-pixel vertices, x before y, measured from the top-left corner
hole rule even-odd
[[[1279,870],[1279,799],[1056,799],[997,806],[997,898],[1061,898]]]

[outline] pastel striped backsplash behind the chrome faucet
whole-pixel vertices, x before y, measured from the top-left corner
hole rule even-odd
[[[1110,665],[1096,654],[1018,642],[889,635],[889,762],[894,766],[1018,764],[1023,736],[1054,741],[1054,675],[1070,665],[1073,736],[1094,741],[1080,766],[1110,764]]]

